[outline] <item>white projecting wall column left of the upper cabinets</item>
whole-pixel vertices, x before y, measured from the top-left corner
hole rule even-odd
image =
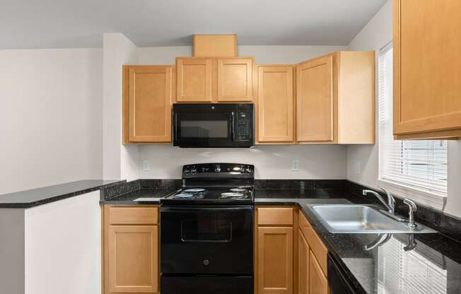
[[[103,35],[103,178],[136,180],[139,151],[122,145],[122,65],[136,64],[138,47],[121,33]]]

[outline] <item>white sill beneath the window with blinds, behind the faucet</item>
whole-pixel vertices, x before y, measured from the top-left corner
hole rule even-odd
[[[392,194],[395,194],[395,196],[399,198],[408,198],[418,202],[419,204],[430,206],[439,211],[443,211],[443,208],[445,207],[445,202],[447,200],[446,196],[416,189],[414,187],[404,186],[402,184],[396,184],[395,182],[383,179],[378,179],[378,183],[381,187],[388,189]]]

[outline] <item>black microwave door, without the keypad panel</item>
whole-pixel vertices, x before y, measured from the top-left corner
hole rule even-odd
[[[235,105],[173,105],[173,146],[233,147]]]

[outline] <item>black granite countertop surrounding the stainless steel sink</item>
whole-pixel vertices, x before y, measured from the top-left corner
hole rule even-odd
[[[295,197],[288,198],[291,195]],[[344,203],[375,205],[340,190],[258,190],[256,197],[257,205],[299,206],[357,293],[461,293],[461,243],[449,237],[439,233],[329,233],[310,206]],[[365,248],[373,246],[378,240],[384,242],[371,249]]]

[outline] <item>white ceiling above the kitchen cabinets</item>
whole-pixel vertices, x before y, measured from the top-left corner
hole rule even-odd
[[[191,45],[236,33],[239,45],[347,45],[387,0],[0,0],[0,49]]]

